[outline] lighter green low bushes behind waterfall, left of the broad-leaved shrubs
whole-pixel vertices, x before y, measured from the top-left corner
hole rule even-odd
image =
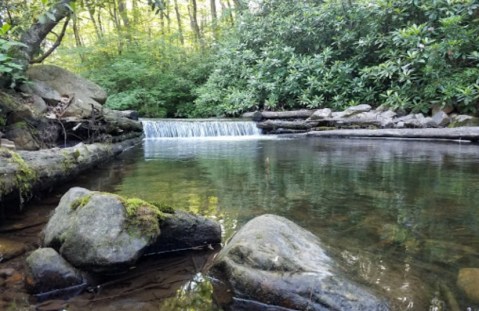
[[[117,110],[137,110],[144,117],[186,117],[209,72],[207,51],[187,51],[159,40],[141,40],[123,48],[109,50],[112,42],[90,49],[84,61],[74,68],[103,86],[110,96],[106,106]],[[62,53],[80,52],[78,49]],[[68,64],[65,64],[68,66]]]

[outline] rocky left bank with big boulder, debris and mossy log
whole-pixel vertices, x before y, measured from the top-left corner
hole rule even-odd
[[[110,160],[143,135],[138,115],[103,107],[107,94],[91,81],[52,65],[27,74],[16,92],[0,90],[3,213]]]

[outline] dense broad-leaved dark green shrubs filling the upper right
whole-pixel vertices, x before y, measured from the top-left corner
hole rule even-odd
[[[197,112],[386,104],[476,112],[475,0],[264,0],[243,14]]]

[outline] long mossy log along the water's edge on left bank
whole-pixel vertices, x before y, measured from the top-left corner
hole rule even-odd
[[[70,180],[140,142],[138,137],[119,143],[80,143],[39,151],[0,148],[0,202],[16,199],[21,206],[34,193],[50,191],[55,184]]]

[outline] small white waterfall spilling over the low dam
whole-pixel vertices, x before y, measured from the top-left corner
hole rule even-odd
[[[232,120],[142,120],[148,138],[256,136],[261,130],[252,121]]]

